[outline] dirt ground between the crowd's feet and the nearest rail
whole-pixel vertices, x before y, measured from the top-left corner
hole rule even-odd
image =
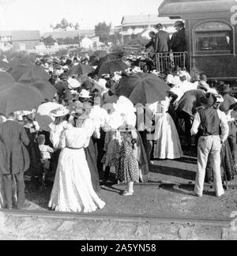
[[[191,159],[192,160],[192,159]],[[185,160],[154,161],[150,168],[150,183],[194,183],[197,165]],[[190,159],[189,159],[190,161]],[[237,179],[231,183],[237,184]],[[47,190],[27,194],[36,209],[48,210],[52,184]],[[126,190],[123,185],[102,186],[100,198],[106,207],[96,213],[126,213],[159,216],[198,216],[220,219],[230,217],[237,209],[237,190],[228,190],[223,198],[216,198],[214,190],[205,190],[203,198],[194,197],[193,187],[186,189],[164,188],[159,186],[134,186],[134,196],[122,197]]]

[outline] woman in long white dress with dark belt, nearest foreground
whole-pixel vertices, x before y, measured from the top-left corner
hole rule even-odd
[[[66,110],[52,111],[53,115],[67,115]],[[103,209],[105,203],[93,190],[84,146],[88,130],[67,126],[59,139],[62,149],[58,160],[55,183],[49,207],[58,212],[91,213]]]

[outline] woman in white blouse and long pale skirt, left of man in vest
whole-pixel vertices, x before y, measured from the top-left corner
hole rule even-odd
[[[167,113],[170,101],[166,97],[166,100],[150,106],[156,123],[154,158],[157,159],[178,159],[183,154],[175,122]]]

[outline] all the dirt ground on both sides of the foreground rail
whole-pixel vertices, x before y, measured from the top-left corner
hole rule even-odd
[[[222,220],[231,218],[237,209],[237,190],[226,191],[224,197],[216,198],[213,189],[205,190],[203,198],[193,195],[193,186],[186,189],[159,188],[158,183],[194,183],[197,159],[185,156],[182,160],[157,160],[150,167],[149,186],[134,186],[134,196],[122,197],[126,186],[112,184],[101,186],[100,198],[106,202],[100,214],[129,214],[167,218],[209,218]],[[111,175],[112,177],[112,175]],[[154,184],[155,183],[155,184]],[[156,185],[157,183],[157,185]],[[237,179],[231,183],[237,184]],[[29,190],[29,183],[26,183]],[[48,213],[47,203],[52,183],[46,190],[26,194],[32,203],[28,210]],[[2,213],[0,212],[0,215]],[[0,228],[0,239],[225,239],[230,232],[216,227],[183,226],[177,224],[152,224],[111,220],[53,220],[36,216],[5,215],[4,228]],[[0,218],[1,220],[1,218]],[[0,221],[1,225],[1,221]],[[237,233],[231,236],[237,239]]]

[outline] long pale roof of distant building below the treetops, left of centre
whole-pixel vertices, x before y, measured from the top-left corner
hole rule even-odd
[[[58,31],[58,32],[46,32],[43,34],[44,38],[48,36],[52,36],[55,40],[62,38],[74,38],[76,36],[95,36],[94,29],[80,29],[80,30],[73,30],[73,31]]]

